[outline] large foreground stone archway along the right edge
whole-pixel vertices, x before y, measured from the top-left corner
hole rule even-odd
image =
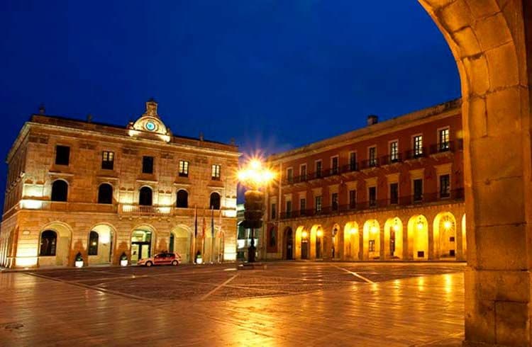
[[[531,279],[523,269],[529,269],[531,263],[527,247],[528,221],[532,219],[528,199],[532,192],[528,179],[532,176],[532,71],[527,62],[532,56],[532,3],[419,3],[448,42],[462,86],[465,210],[470,238],[465,295],[471,298],[465,307],[465,340],[470,344],[529,345],[531,293],[524,288]],[[503,232],[507,237],[498,237]],[[498,281],[501,276],[506,280]],[[477,295],[484,282],[490,282],[491,292],[497,295]],[[526,283],[518,290],[519,300],[515,299],[516,289],[506,283]],[[515,317],[520,317],[519,322]]]

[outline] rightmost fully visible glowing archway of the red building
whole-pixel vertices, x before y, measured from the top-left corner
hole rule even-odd
[[[440,212],[434,218],[434,255],[443,259],[457,256],[456,220],[451,212]]]

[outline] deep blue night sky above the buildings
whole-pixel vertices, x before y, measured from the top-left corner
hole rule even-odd
[[[4,157],[40,103],[126,125],[153,96],[176,135],[272,153],[460,96],[415,0],[3,0],[0,33]]]

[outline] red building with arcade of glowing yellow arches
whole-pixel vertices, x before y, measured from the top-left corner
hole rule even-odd
[[[272,155],[267,258],[465,260],[460,100]]]

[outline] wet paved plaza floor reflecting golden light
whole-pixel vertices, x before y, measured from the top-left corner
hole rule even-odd
[[[0,274],[0,346],[460,346],[463,264]]]

